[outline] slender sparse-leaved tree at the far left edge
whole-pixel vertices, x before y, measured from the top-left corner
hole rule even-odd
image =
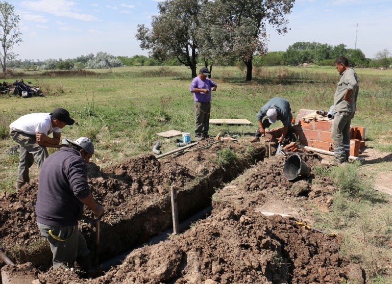
[[[22,41],[22,33],[19,31],[20,18],[14,13],[14,6],[7,2],[0,2],[0,63],[3,74],[7,70],[7,63],[12,61],[18,54],[12,52],[12,48]]]

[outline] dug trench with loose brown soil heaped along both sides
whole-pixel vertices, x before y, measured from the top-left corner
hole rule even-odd
[[[199,145],[211,144],[207,139]],[[307,230],[295,220],[312,222],[309,211],[325,211],[334,191],[328,178],[317,183],[283,177],[283,155],[266,157],[266,144],[222,142],[179,156],[129,158],[101,170],[88,165],[93,196],[105,207],[99,260],[104,262],[172,227],[170,187],[177,187],[179,221],[212,204],[211,216],[166,241],[132,250],[103,276],[81,279],[77,270],[49,268],[49,245],[35,223],[37,181],[0,197],[0,237],[16,266],[38,283],[337,283],[362,279],[360,267],[339,255],[341,239]],[[218,162],[224,150],[231,162]],[[304,155],[310,168],[317,156]],[[293,217],[265,216],[285,212]],[[90,247],[94,226],[87,209],[79,228]],[[23,263],[31,262],[31,266]],[[3,265],[3,264],[1,264]],[[27,268],[26,268],[27,267]],[[7,274],[7,275],[8,275]]]

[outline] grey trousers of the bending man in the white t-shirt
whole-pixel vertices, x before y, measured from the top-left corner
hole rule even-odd
[[[20,145],[16,187],[21,188],[22,185],[30,181],[28,169],[33,165],[34,161],[41,168],[42,163],[49,154],[46,147],[42,147],[36,143],[35,135],[29,135],[14,130],[11,130],[9,135]]]

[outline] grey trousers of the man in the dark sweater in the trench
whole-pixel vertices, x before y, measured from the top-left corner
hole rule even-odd
[[[60,264],[72,267],[76,257],[87,256],[90,253],[86,239],[79,232],[77,226],[48,226],[39,222],[37,222],[37,225],[41,235],[49,241],[50,250],[53,254],[53,267]]]

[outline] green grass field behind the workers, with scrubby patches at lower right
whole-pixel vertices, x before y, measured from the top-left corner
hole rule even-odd
[[[357,69],[356,72],[360,80],[360,91],[352,125],[366,127],[368,147],[379,152],[391,153],[392,70]],[[92,139],[96,146],[96,154],[92,161],[101,168],[120,162],[126,157],[152,154],[152,147],[158,140],[162,142],[163,153],[176,148],[173,141],[177,137],[168,142],[155,133],[176,129],[191,132],[193,136],[194,103],[189,91],[191,72],[186,67],[121,67],[71,74],[43,74],[38,71],[18,70],[14,70],[13,73],[16,74],[14,77],[2,80],[8,83],[20,78],[25,82],[31,81],[31,85],[40,87],[45,97],[23,99],[0,95],[0,192],[14,190],[17,173],[18,156],[6,153],[15,145],[8,136],[8,126],[27,113],[51,112],[56,107],[68,109],[76,123],[63,129],[62,138],[76,139],[87,136]],[[212,79],[218,84],[218,90],[213,92],[211,118],[247,119],[253,125],[211,125],[210,134],[236,133],[239,134],[239,139],[248,140],[257,127],[256,113],[272,97],[288,99],[295,111],[294,116],[300,109],[328,110],[333,104],[339,77],[339,73],[333,67],[269,67],[253,68],[253,80],[246,82],[245,73],[239,68],[214,67]],[[280,122],[272,127],[275,126],[281,126]],[[372,177],[390,172],[392,167],[390,160],[380,160],[371,167],[360,167],[361,169],[368,177]],[[31,178],[38,177],[38,172],[34,165]],[[317,218],[320,226],[341,226],[341,218],[344,214],[350,215],[350,204],[355,204],[345,198],[347,197],[334,196],[335,205],[339,205],[341,201],[345,207],[336,207],[330,215],[320,215]],[[353,235],[365,235],[365,230],[370,230],[367,229],[369,226],[366,227],[370,221],[369,217],[360,218],[363,214],[373,214],[378,218],[378,224],[383,220],[387,224],[386,228],[391,228],[392,213],[390,209],[385,208],[388,207],[387,204],[372,203],[369,200],[364,202],[366,206],[353,206],[356,208],[356,211],[352,209],[355,211],[356,219],[347,217],[345,220],[356,220],[352,223],[358,223],[358,226],[339,227],[342,234],[350,234],[352,230]],[[347,213],[347,210],[351,213]],[[381,232],[381,229],[374,230]],[[388,230],[382,232],[390,238],[391,229]],[[348,241],[344,246],[348,258],[365,265],[367,261],[373,261],[373,264],[367,266],[368,273],[372,275],[371,283],[390,283],[388,281],[391,279],[384,279],[383,269],[375,267],[380,263],[372,260],[372,244],[366,239],[360,242],[361,246],[355,242],[355,238]],[[360,251],[356,249],[356,255],[350,255],[353,254],[354,248],[360,248]],[[383,257],[388,257],[388,250],[385,252],[383,247],[376,249],[382,252]],[[360,256],[360,253],[363,255]],[[368,253],[368,257],[365,253]]]

